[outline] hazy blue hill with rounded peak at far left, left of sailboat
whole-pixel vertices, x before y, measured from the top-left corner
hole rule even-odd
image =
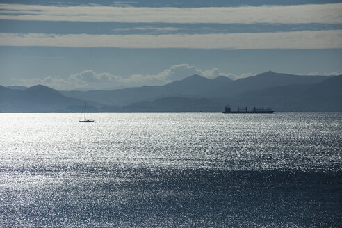
[[[83,104],[84,101],[65,97],[47,86],[37,85],[24,90],[0,86],[1,112],[70,111],[72,106],[77,106],[77,110],[81,111]]]

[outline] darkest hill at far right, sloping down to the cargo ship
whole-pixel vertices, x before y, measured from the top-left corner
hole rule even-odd
[[[297,84],[244,92],[230,99],[244,106],[272,106],[277,111],[342,111],[342,76],[316,84]]]

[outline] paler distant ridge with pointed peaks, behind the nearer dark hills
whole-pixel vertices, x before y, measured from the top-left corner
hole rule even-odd
[[[250,90],[262,90],[272,86],[318,83],[327,76],[299,76],[266,72],[257,76],[233,81],[219,76],[206,79],[197,74],[165,86],[142,86],[121,90],[61,91],[67,97],[87,99],[101,104],[128,106],[141,101],[154,101],[162,97],[231,97]]]

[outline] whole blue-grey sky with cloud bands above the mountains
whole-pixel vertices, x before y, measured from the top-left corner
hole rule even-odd
[[[342,74],[342,1],[0,0],[0,85]]]

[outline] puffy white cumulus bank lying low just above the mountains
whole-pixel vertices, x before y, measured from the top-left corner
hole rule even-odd
[[[251,73],[234,75],[231,73],[223,73],[218,68],[201,70],[198,67],[188,64],[177,64],[172,65],[158,74],[132,74],[126,78],[108,72],[96,73],[92,70],[84,70],[76,74],[71,74],[67,79],[47,76],[44,79],[18,79],[17,83],[23,86],[42,84],[55,88],[56,90],[90,90],[136,86],[161,86],[172,81],[185,79],[193,74],[199,74],[209,79],[221,75],[231,79],[239,79],[241,77],[254,75]]]

